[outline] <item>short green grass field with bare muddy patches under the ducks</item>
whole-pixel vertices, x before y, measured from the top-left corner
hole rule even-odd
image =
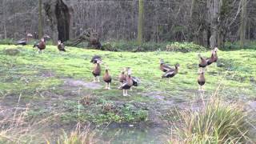
[[[77,122],[94,125],[140,123],[146,125],[174,121],[170,109],[178,110],[187,102],[201,98],[198,93],[198,53],[181,52],[110,52],[66,47],[59,53],[47,46],[37,54],[32,46],[0,46],[0,104],[2,109],[27,108],[24,122],[58,123],[66,129]],[[14,53],[18,50],[17,54]],[[8,54],[7,54],[8,53]],[[102,56],[114,78],[112,90],[105,83],[93,83],[90,58]],[[202,52],[210,57],[210,51]],[[170,83],[162,79],[159,60],[171,66],[180,64],[178,75]],[[256,53],[254,50],[218,51],[218,62],[207,68],[204,98],[218,90],[230,101],[254,100],[256,93]],[[141,84],[123,97],[118,90],[118,75],[123,67],[131,67]],[[102,66],[102,74],[104,73]],[[102,78],[101,78],[102,80]],[[85,104],[87,102],[87,104]],[[42,128],[42,131],[50,126]],[[41,130],[41,129],[38,129]]]

